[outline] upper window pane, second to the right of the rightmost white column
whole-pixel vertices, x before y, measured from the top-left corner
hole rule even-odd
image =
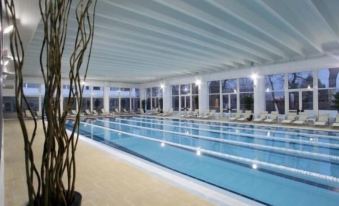
[[[312,72],[296,72],[288,74],[288,88],[301,89],[313,86]]]

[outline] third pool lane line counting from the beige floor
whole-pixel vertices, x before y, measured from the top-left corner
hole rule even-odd
[[[104,118],[106,119],[106,118]],[[196,127],[187,127],[187,126],[181,126],[181,125],[170,125],[165,123],[154,123],[154,122],[144,122],[144,121],[138,121],[130,118],[115,118],[118,120],[123,121],[129,121],[129,122],[136,122],[141,124],[151,124],[151,125],[166,125],[170,127],[176,127],[176,128],[185,128],[185,129],[191,129],[191,130],[198,130],[198,131],[207,131],[207,132],[213,132],[213,133],[222,133],[222,134],[230,134],[235,136],[243,136],[248,138],[254,138],[254,139],[264,139],[264,140],[271,140],[271,141],[278,141],[278,142],[287,142],[287,143],[296,143],[299,145],[308,145],[308,146],[316,146],[316,147],[323,147],[323,148],[332,148],[332,149],[339,149],[339,144],[332,144],[332,143],[325,143],[325,142],[315,142],[315,141],[307,141],[307,140],[298,140],[295,138],[283,138],[283,137],[275,137],[275,136],[265,136],[265,135],[258,135],[258,134],[246,134],[246,133],[237,133],[237,132],[228,132],[223,130],[214,130],[214,129],[206,129],[206,128],[196,128]],[[100,120],[100,119],[97,119]]]

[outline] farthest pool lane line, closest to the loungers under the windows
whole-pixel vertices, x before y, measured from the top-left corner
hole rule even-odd
[[[292,131],[276,131],[276,130],[271,130],[271,129],[263,129],[263,128],[249,128],[249,127],[239,127],[239,126],[231,126],[233,125],[241,125],[239,123],[229,123],[229,122],[216,122],[216,121],[211,121],[211,122],[207,122],[207,121],[201,121],[201,120],[194,120],[194,119],[176,119],[176,118],[165,118],[165,119],[161,119],[161,117],[146,117],[144,118],[143,116],[133,116],[132,118],[138,118],[138,119],[143,119],[143,120],[150,120],[150,121],[170,121],[170,122],[178,122],[178,123],[189,123],[189,124],[195,124],[195,125],[207,125],[207,126],[212,126],[212,127],[219,127],[219,128],[225,128],[225,129],[242,129],[242,130],[256,130],[256,131],[263,131],[263,132],[273,132],[273,133],[279,133],[279,134],[294,134],[294,135],[299,135],[299,136],[312,136],[312,137],[321,137],[321,138],[327,138],[327,139],[337,139],[339,140],[339,136],[330,136],[330,135],[323,135],[323,134],[310,134],[310,133],[304,133],[304,132],[292,132]],[[221,125],[211,125],[210,123],[217,123],[217,124],[221,124]],[[226,126],[224,124],[228,124],[229,126]],[[242,125],[246,125],[246,126],[251,126],[249,124],[242,124]],[[270,126],[261,126],[261,125],[255,125],[255,127],[270,127]],[[289,128],[289,127],[286,127]],[[289,128],[289,129],[293,129],[296,130],[296,128]],[[307,129],[302,129],[302,130],[307,130]],[[328,132],[325,130],[310,130],[310,131],[320,131],[320,132]],[[339,133],[339,131],[330,131],[330,132],[334,132],[334,133]]]

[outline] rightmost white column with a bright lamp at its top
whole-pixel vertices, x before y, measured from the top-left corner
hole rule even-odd
[[[266,110],[265,102],[265,78],[259,76],[254,83],[254,114],[259,114]]]

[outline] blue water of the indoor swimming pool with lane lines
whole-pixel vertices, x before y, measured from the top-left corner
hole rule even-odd
[[[135,116],[80,133],[263,204],[339,205],[338,132]]]

